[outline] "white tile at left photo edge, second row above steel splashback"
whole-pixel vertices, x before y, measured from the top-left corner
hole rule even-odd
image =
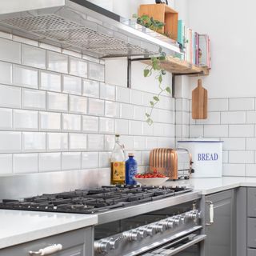
[[[22,133],[0,131],[0,152],[12,153],[22,150]]]

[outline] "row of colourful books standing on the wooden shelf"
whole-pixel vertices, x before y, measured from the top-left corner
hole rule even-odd
[[[186,62],[210,69],[210,38],[207,34],[198,34],[179,20],[178,43],[183,47]]]

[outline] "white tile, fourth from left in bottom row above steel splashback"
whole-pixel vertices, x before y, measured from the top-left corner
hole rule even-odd
[[[81,153],[80,152],[62,153],[62,170],[78,170],[78,169],[81,169]]]

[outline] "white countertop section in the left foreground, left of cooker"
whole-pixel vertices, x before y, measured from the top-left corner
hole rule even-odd
[[[0,210],[0,249],[92,226],[97,222],[98,217],[94,214]]]

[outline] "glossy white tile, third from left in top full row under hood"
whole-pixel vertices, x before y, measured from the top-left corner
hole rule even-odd
[[[67,73],[68,57],[65,54],[59,54],[53,51],[47,52],[47,69]]]

